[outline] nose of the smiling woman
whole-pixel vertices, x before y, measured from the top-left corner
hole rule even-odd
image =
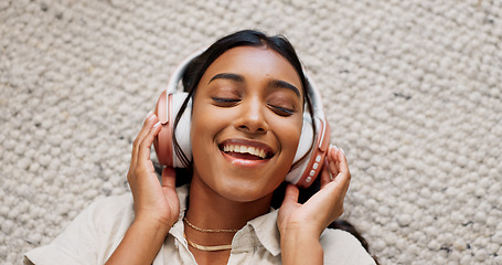
[[[239,116],[235,120],[235,128],[247,134],[267,132],[269,128],[264,112],[263,103],[258,100],[243,103]]]

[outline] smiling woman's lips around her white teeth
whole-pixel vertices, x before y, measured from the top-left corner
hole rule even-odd
[[[265,159],[259,159],[259,160],[249,160],[249,159],[241,159],[241,158],[235,158],[232,156],[228,156],[226,152],[223,151],[223,146],[225,145],[239,145],[239,146],[247,146],[247,147],[255,147],[255,148],[261,148],[267,152],[267,158]],[[223,157],[229,161],[233,165],[241,166],[241,167],[246,167],[246,168],[253,168],[253,167],[259,167],[265,163],[267,163],[274,156],[275,151],[274,149],[260,141],[253,141],[253,140],[247,140],[247,139],[227,139],[218,144],[218,149],[220,152],[223,155]]]

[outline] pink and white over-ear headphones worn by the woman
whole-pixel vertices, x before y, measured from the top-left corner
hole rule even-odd
[[[192,147],[190,140],[190,128],[191,128],[191,108],[192,99],[189,100],[184,113],[182,114],[177,130],[173,131],[174,119],[180,112],[181,105],[188,97],[186,92],[179,92],[178,84],[183,76],[186,66],[190,62],[199,56],[202,52],[199,51],[191,56],[186,57],[174,71],[173,75],[169,80],[168,88],[160,95],[157,102],[156,114],[162,124],[162,129],[153,141],[156,148],[157,158],[163,166],[183,168],[183,163],[175,156],[174,146],[172,141],[172,135],[175,134],[178,144],[185,156],[192,158]],[[305,72],[303,72],[305,73]],[[321,94],[319,93],[316,84],[307,76],[308,93],[312,100],[313,106],[313,125],[316,126],[317,135],[313,137],[312,119],[308,113],[303,113],[303,127],[301,129],[300,141],[298,144],[297,153],[295,155],[293,165],[303,158],[299,163],[295,165],[293,168],[286,176],[286,180],[301,188],[308,188],[312,184],[313,180],[318,177],[324,165],[325,155],[330,145],[330,126],[324,117],[322,109]],[[312,139],[316,141],[312,145]]]

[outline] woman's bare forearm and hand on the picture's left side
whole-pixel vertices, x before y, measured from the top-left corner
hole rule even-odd
[[[161,184],[150,160],[150,148],[160,129],[159,119],[150,113],[135,139],[127,173],[135,200],[135,221],[106,264],[151,264],[178,220],[180,202],[174,170],[162,171]]]

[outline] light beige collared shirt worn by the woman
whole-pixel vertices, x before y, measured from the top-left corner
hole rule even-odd
[[[153,265],[196,264],[183,237],[188,186],[178,188],[181,209]],[[51,244],[25,254],[24,264],[104,264],[131,225],[132,195],[108,197],[84,210]],[[249,221],[232,242],[228,264],[280,264],[277,210]],[[320,237],[324,264],[375,264],[361,243],[350,233],[325,230]]]

